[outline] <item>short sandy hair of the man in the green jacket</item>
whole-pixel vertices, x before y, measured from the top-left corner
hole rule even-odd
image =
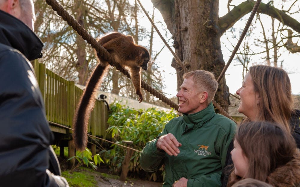
[[[205,70],[196,70],[185,73],[182,78],[186,79],[188,77],[193,77],[193,81],[197,85],[199,92],[208,93],[206,103],[209,104],[214,99],[219,86],[214,74]]]

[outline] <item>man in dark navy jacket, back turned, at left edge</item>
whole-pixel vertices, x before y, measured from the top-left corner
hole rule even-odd
[[[0,186],[68,187],[29,60],[42,56],[32,0],[0,0]]]

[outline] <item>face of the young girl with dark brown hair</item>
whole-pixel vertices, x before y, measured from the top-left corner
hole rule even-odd
[[[243,150],[236,140],[233,142],[233,149],[230,154],[234,164],[234,174],[245,177],[249,169],[249,161],[248,158],[244,156]]]

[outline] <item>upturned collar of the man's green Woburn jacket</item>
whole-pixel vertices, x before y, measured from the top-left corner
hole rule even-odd
[[[205,122],[214,117],[216,113],[214,112],[214,106],[212,102],[203,110],[185,115],[183,114],[183,119],[187,124],[187,129],[191,129],[195,126],[195,128],[200,128]],[[186,130],[187,130],[186,129]]]

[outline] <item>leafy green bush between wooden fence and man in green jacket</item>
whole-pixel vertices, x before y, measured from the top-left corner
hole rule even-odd
[[[120,143],[122,140],[132,141],[133,145],[130,147],[137,150],[142,150],[146,142],[153,140],[163,130],[164,125],[176,117],[176,112],[173,110],[170,112],[156,108],[134,110],[119,102],[114,102],[110,108],[107,132],[110,133],[112,141],[116,143]],[[126,148],[113,144],[110,150],[101,153],[101,157],[110,166],[111,171],[119,173],[126,155]],[[137,151],[131,157],[129,171],[134,176],[143,172],[139,164],[139,157],[140,153]],[[162,171],[159,172],[162,173]],[[156,180],[157,176],[154,173],[149,174],[147,178]]]

